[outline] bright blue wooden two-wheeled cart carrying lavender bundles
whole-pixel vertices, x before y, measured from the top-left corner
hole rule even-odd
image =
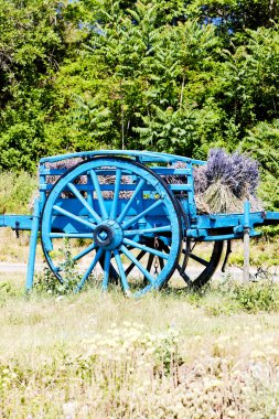
[[[73,162],[71,169],[60,164],[65,160]],[[193,168],[200,164],[205,162],[112,150],[41,159],[33,215],[0,216],[2,227],[31,230],[26,289],[33,284],[39,235],[50,269],[61,282],[65,259],[71,258],[77,290],[98,275],[104,289],[109,281],[119,282],[137,297],[163,287],[174,271],[189,287],[204,286],[224,244],[226,262],[232,239],[243,238],[245,228],[257,236],[255,227],[279,223],[279,213],[251,213],[247,205],[242,214],[198,215]],[[175,176],[183,183],[178,184]],[[208,248],[201,253],[204,241]],[[62,251],[65,243],[73,255]],[[194,270],[189,269],[190,260]]]

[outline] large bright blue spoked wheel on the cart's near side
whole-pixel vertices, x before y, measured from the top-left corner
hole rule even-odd
[[[168,251],[155,246],[158,237]],[[77,290],[89,277],[100,277],[104,289],[119,280],[136,297],[161,288],[176,268],[181,243],[174,197],[152,170],[129,159],[76,165],[55,183],[43,208],[46,261],[61,282],[65,266],[74,266]],[[150,268],[153,258],[164,260],[160,272]]]

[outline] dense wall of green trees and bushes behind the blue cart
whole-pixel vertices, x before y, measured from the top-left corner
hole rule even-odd
[[[98,148],[243,149],[278,208],[279,8],[249,0],[0,0],[0,166]]]

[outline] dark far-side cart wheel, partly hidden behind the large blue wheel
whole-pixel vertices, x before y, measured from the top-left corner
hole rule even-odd
[[[185,240],[175,272],[164,287],[200,289],[214,275],[222,257],[224,241]],[[168,246],[160,241],[159,249],[168,253]],[[157,258],[157,269],[163,269],[164,260]],[[181,279],[180,279],[181,278]],[[183,281],[182,281],[183,280]]]

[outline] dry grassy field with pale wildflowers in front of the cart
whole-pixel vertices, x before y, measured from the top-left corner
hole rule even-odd
[[[0,276],[0,417],[278,418],[279,288],[141,300]]]

